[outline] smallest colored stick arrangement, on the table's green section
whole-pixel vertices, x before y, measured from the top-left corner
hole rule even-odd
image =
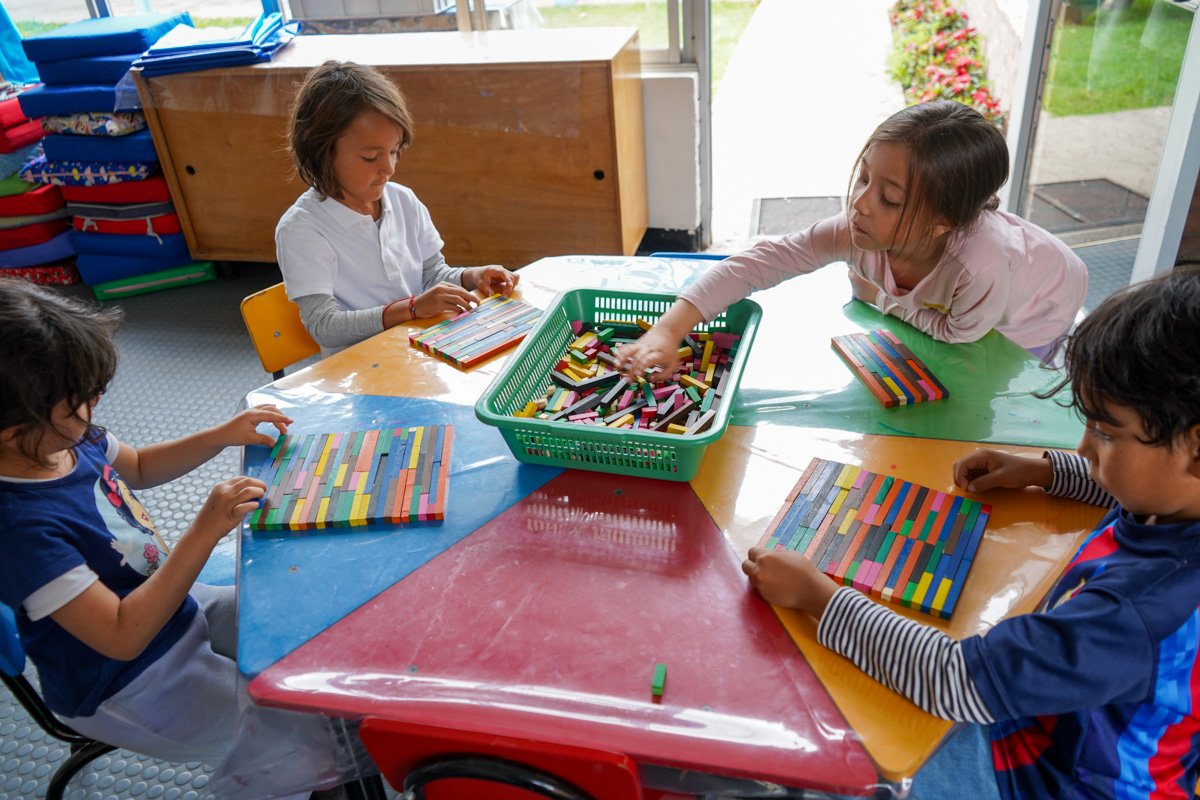
[[[950,396],[932,371],[889,330],[835,336],[833,349],[887,408]]]

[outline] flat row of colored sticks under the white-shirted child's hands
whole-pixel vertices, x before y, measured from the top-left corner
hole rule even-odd
[[[408,343],[457,367],[470,367],[518,343],[539,317],[539,308],[492,295],[457,317],[416,331]]]

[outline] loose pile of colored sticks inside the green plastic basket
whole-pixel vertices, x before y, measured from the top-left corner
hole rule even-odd
[[[613,349],[649,330],[644,319],[571,324],[576,335],[545,392],[515,416],[679,435],[707,431],[720,408],[740,333],[695,331],[679,348],[679,369],[660,383],[620,374]]]

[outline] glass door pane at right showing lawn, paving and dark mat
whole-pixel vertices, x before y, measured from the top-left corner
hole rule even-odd
[[[1014,169],[1024,176],[1015,210],[1087,264],[1085,311],[1133,277],[1193,25],[1186,5],[1062,0],[1049,11],[1042,102],[1027,170]]]

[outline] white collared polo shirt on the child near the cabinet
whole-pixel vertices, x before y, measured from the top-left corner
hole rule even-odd
[[[373,308],[422,291],[422,264],[442,251],[410,188],[389,182],[379,223],[308,190],[275,227],[288,297],[331,295],[344,308]]]

